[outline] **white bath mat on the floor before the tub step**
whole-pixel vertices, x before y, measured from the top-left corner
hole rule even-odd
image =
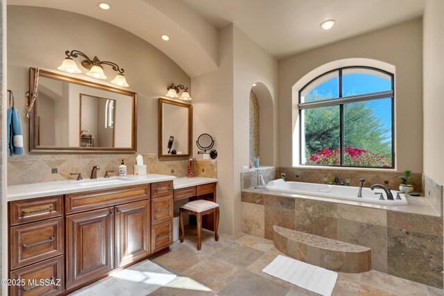
[[[262,271],[323,296],[332,295],[338,278],[336,272],[282,255],[277,256]]]

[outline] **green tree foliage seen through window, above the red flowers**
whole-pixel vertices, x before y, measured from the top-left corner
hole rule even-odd
[[[305,102],[332,98],[316,91],[305,97]],[[304,110],[305,153],[312,155],[323,148],[339,148],[339,106]],[[391,136],[382,119],[368,102],[349,103],[344,107],[344,146],[369,150],[391,157]]]

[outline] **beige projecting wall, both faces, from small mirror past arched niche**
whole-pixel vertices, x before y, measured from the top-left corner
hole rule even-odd
[[[242,166],[249,164],[250,90],[254,82],[268,87],[268,110],[272,114],[268,146],[275,151],[273,104],[277,97],[278,62],[233,24],[221,28],[219,45],[219,70],[191,80],[194,138],[203,132],[215,138],[219,153],[217,199],[221,205],[221,232],[235,234],[241,231],[239,176]],[[273,154],[271,162],[274,157]]]

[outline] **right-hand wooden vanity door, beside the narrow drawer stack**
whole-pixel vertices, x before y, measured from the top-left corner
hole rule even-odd
[[[121,204],[116,209],[116,268],[150,254],[150,201]]]

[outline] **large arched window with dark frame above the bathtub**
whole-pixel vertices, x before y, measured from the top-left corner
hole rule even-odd
[[[393,78],[381,69],[343,67],[302,87],[300,164],[393,168]]]

